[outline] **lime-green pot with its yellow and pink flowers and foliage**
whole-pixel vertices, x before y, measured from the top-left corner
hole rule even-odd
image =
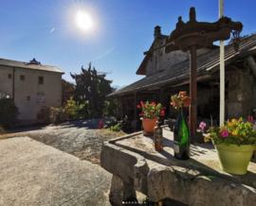
[[[232,119],[220,128],[210,128],[205,141],[212,141],[217,151],[220,168],[230,174],[245,175],[253,151],[256,150],[256,131],[253,124],[241,117]]]

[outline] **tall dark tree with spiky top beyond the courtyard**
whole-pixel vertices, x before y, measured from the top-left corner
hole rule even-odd
[[[106,73],[98,73],[95,67],[91,68],[91,63],[89,63],[87,70],[82,66],[80,75],[70,73],[70,76],[76,80],[74,99],[79,104],[87,103],[90,117],[101,116],[106,94],[114,91],[110,86],[112,81],[105,79]]]

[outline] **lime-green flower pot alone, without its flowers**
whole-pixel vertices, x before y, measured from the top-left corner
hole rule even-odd
[[[233,175],[247,174],[247,166],[256,146],[214,145],[217,151],[220,168]]]

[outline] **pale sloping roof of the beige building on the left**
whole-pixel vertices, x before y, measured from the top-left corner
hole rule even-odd
[[[0,65],[64,74],[64,71],[60,70],[56,66],[47,66],[47,65],[43,65],[41,63],[40,64],[31,64],[28,62],[23,62],[23,61],[18,61],[18,60],[0,59]]]

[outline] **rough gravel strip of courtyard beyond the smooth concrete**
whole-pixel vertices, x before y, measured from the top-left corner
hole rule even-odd
[[[45,128],[10,130],[7,136],[28,136],[48,146],[53,146],[81,160],[100,164],[101,145],[104,141],[125,135],[124,132],[109,131],[111,119],[79,120],[51,125]]]

